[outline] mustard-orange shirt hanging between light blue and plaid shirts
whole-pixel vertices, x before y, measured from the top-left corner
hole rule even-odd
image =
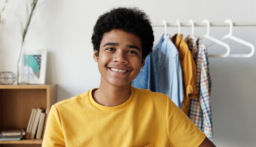
[[[170,39],[175,44],[179,52],[179,61],[182,69],[184,98],[181,110],[188,115],[190,108],[190,98],[197,98],[199,93],[196,88],[196,64],[189,51],[187,43],[182,39],[183,35],[175,34]]]

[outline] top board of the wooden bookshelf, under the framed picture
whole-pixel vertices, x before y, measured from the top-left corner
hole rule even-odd
[[[0,89],[47,89],[50,84],[43,85],[0,85]]]

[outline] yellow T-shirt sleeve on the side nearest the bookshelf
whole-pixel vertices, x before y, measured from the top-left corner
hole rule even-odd
[[[42,147],[63,147],[65,139],[57,108],[52,105],[45,128]]]

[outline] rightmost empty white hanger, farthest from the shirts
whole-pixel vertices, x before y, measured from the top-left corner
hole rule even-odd
[[[234,40],[236,42],[239,42],[239,43],[241,43],[243,45],[246,45],[246,46],[248,46],[248,47],[250,47],[252,49],[251,53],[249,53],[249,54],[229,54],[228,57],[247,57],[247,58],[248,57],[252,57],[254,52],[255,52],[255,48],[254,48],[253,44],[251,44],[249,42],[246,42],[246,41],[244,41],[242,39],[239,39],[237,37],[232,36],[232,33],[233,33],[233,22],[230,19],[227,19],[224,22],[225,23],[229,23],[229,25],[230,25],[230,27],[229,27],[229,34],[223,36],[221,38],[221,40],[229,38],[229,39],[232,39],[232,40]]]

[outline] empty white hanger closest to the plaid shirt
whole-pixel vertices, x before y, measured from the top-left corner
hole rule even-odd
[[[220,40],[218,40],[218,39],[216,39],[216,38],[213,38],[213,37],[209,36],[209,34],[210,34],[210,22],[207,19],[203,20],[202,23],[206,23],[206,25],[207,25],[207,33],[203,36],[203,38],[207,38],[207,39],[209,39],[209,40],[211,40],[211,41],[213,41],[213,42],[215,42],[215,43],[217,43],[217,44],[219,44],[219,45],[221,45],[221,46],[223,46],[227,49],[227,52],[225,54],[208,55],[208,57],[222,57],[222,58],[227,57],[230,53],[229,45],[220,41]]]

